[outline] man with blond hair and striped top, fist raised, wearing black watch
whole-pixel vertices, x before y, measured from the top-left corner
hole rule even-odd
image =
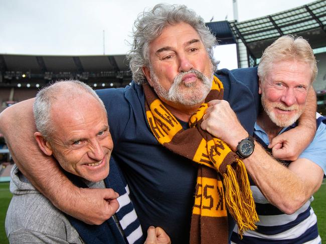
[[[263,109],[254,127],[255,150],[244,159],[260,221],[243,239],[235,227],[234,243],[320,243],[310,202],[326,172],[326,118],[317,114],[315,137],[298,159],[278,162],[265,151],[274,137],[297,126],[316,74],[312,49],[301,37],[283,36],[262,55],[258,76]],[[208,110],[202,126],[236,150],[247,132],[227,107],[222,104],[219,112]]]

